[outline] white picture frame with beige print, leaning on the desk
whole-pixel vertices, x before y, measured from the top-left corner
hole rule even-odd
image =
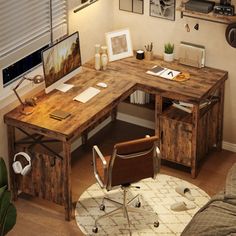
[[[121,29],[106,33],[109,61],[133,56],[133,48],[129,29]]]

